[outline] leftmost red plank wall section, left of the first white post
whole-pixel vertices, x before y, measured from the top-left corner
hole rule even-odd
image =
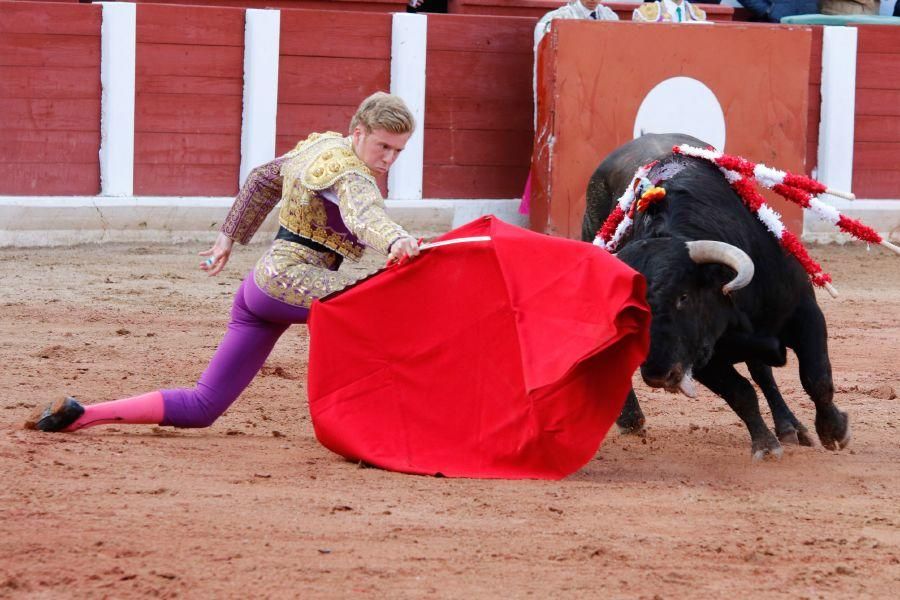
[[[100,7],[0,8],[0,194],[100,192]]]

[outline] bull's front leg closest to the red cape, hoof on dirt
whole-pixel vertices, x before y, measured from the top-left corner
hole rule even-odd
[[[694,373],[694,377],[721,396],[740,417],[750,432],[750,452],[753,460],[766,456],[781,458],[784,450],[778,438],[768,428],[759,412],[759,399],[753,385],[738,373],[734,365],[713,359]]]

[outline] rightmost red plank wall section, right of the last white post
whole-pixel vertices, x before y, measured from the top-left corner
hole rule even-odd
[[[900,198],[900,27],[858,30],[853,192]]]

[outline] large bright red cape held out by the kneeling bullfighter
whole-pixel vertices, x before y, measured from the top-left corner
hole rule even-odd
[[[649,346],[640,274],[493,217],[313,304],[316,437],[448,477],[559,479],[597,452]]]

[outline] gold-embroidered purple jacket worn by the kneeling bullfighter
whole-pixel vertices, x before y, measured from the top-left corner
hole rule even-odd
[[[388,218],[372,172],[349,137],[313,133],[297,147],[254,169],[228,213],[222,232],[246,244],[282,200],[279,224],[351,260],[366,246],[387,254],[406,231]]]

